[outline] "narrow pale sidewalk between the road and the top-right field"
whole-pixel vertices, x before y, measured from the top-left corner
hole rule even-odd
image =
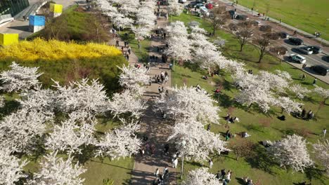
[[[232,1],[229,1],[229,0],[218,0],[218,1],[221,1],[225,4],[232,4]],[[252,15],[257,15],[258,14],[257,11],[252,11],[250,8],[246,8],[245,6],[241,6],[240,4],[238,4],[238,5],[235,4],[234,8],[240,9],[241,11],[244,11],[245,13],[249,13],[249,14],[252,14]],[[262,15],[262,13],[261,13],[261,15]],[[276,20],[276,19],[271,18],[269,16],[266,16],[266,18],[269,18],[270,22],[276,22],[277,24],[281,25],[282,27],[285,27],[285,28],[290,29],[292,31],[296,30],[298,34],[302,34],[302,35],[306,36],[309,39],[316,40],[318,43],[322,42],[325,46],[329,46],[329,41],[326,41],[325,39],[315,37],[313,34],[310,34],[308,32],[304,32],[301,29],[298,29],[296,27],[292,27],[290,25],[287,25],[284,22],[281,22],[281,24],[280,24],[280,20]]]

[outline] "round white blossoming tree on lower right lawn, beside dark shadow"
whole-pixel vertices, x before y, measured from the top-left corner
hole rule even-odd
[[[307,152],[306,140],[298,135],[288,135],[279,142],[274,142],[269,151],[278,160],[280,166],[290,166],[294,171],[304,172],[304,168],[313,165]]]

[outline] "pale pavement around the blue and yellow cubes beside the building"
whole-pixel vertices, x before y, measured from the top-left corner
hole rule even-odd
[[[62,4],[63,9],[75,4],[75,0],[54,0],[57,4]],[[34,2],[34,1],[31,1]],[[4,34],[19,34],[20,39],[25,39],[27,36],[33,34],[29,30],[29,21],[14,20],[10,23],[5,23],[3,27],[0,27],[0,33]]]

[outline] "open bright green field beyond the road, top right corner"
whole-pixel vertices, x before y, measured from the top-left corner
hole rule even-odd
[[[232,0],[231,0],[232,1]],[[314,34],[321,32],[329,41],[328,0],[238,0],[238,4],[266,13],[276,20],[282,19],[288,25]]]

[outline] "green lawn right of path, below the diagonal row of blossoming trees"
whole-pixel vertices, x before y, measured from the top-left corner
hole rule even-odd
[[[173,73],[172,84],[173,85],[196,85],[199,84],[202,88],[205,88],[208,93],[213,94],[213,90],[217,85],[221,84],[224,86],[221,96],[219,98],[214,97],[215,100],[219,102],[219,107],[221,109],[219,116],[224,117],[231,111],[231,115],[240,118],[240,123],[229,123],[229,129],[232,133],[239,133],[247,131],[251,137],[248,137],[250,141],[257,144],[255,151],[255,156],[252,158],[240,158],[238,161],[235,159],[235,155],[230,153],[229,156],[219,157],[214,156],[214,167],[210,172],[217,172],[225,168],[226,170],[231,169],[233,171],[232,181],[230,184],[240,184],[240,177],[250,177],[254,181],[259,181],[261,184],[292,184],[292,182],[304,181],[311,178],[312,184],[328,184],[329,179],[324,175],[320,175],[323,172],[319,170],[306,170],[305,174],[295,172],[292,173],[290,170],[281,169],[275,163],[271,163],[271,160],[264,153],[265,149],[258,142],[262,140],[278,140],[284,135],[291,133],[296,133],[299,135],[307,136],[309,142],[316,142],[320,139],[321,130],[323,128],[329,128],[329,106],[328,102],[325,107],[321,108],[317,114],[317,121],[304,121],[297,119],[293,116],[284,114],[287,118],[286,121],[279,121],[276,116],[281,115],[280,109],[273,107],[272,113],[262,114],[254,109],[245,109],[246,107],[238,106],[233,97],[236,95],[237,90],[233,88],[232,78],[230,74],[222,74],[223,76],[215,76],[214,78],[209,78],[208,80],[202,79],[202,75],[206,71],[198,70],[192,71],[188,67],[176,66]],[[299,81],[295,81],[299,83]],[[311,85],[309,85],[311,86]],[[328,86],[327,86],[328,88]],[[303,102],[304,107],[309,110],[312,109],[314,112],[318,109],[320,99],[314,97],[311,102]],[[269,125],[262,125],[261,123],[266,121]],[[223,133],[226,132],[228,128],[224,125],[226,121],[221,118],[221,125],[212,124],[212,132]],[[239,137],[239,136],[237,136]],[[328,138],[328,137],[327,137]],[[222,137],[224,139],[224,137]],[[236,138],[237,139],[237,138]],[[236,139],[231,139],[228,142],[235,141]],[[205,162],[207,166],[207,162]],[[193,163],[193,161],[188,161],[185,163],[185,172],[192,170],[196,167],[200,167],[198,163]],[[320,167],[320,169],[323,169]],[[185,174],[186,174],[185,173]]]

